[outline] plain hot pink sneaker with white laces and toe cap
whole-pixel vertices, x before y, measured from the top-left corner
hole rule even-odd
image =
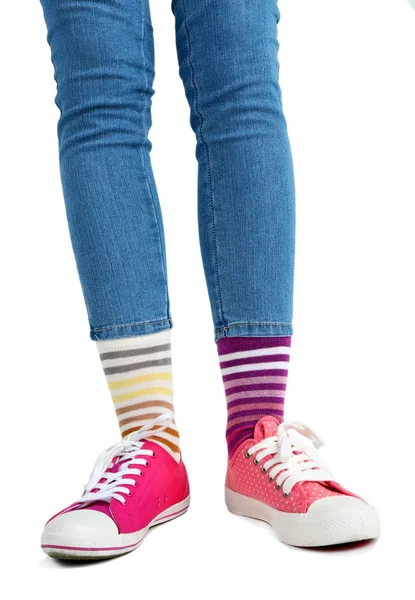
[[[164,416],[160,429],[169,419]],[[160,417],[102,452],[82,498],[46,524],[41,542],[46,554],[64,559],[126,554],[150,527],[186,512],[190,495],[183,462],[145,439],[159,424]]]

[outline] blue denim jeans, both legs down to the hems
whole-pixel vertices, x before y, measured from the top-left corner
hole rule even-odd
[[[148,0],[41,2],[61,112],[63,193],[91,337],[169,328],[148,138]],[[295,195],[276,0],[173,0],[172,10],[197,141],[200,246],[215,339],[290,335]]]

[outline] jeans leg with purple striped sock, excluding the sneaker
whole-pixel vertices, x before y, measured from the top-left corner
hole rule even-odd
[[[294,177],[275,0],[175,0],[199,160],[199,226],[228,400],[229,454],[282,418],[292,333]]]

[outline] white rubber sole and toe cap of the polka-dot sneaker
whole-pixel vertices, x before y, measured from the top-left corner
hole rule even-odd
[[[281,512],[227,487],[225,501],[230,512],[271,525],[278,539],[290,546],[333,546],[370,540],[380,535],[377,511],[358,498],[324,498],[314,502],[304,514]]]

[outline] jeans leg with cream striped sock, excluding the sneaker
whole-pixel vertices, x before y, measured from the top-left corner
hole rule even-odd
[[[173,411],[160,205],[150,163],[148,0],[42,0],[73,248],[123,436]],[[179,458],[175,424],[165,433]]]

